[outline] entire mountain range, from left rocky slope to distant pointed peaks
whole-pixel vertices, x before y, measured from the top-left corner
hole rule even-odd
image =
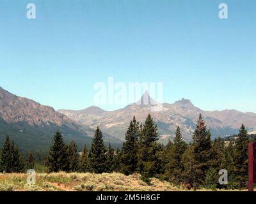
[[[160,104],[150,98],[148,92],[141,96],[140,101],[114,111],[102,110],[97,106],[56,111],[51,106],[15,96],[0,87],[0,144],[9,134],[22,150],[44,151],[51,145],[54,133],[60,130],[67,142],[74,140],[81,149],[84,143],[90,145],[94,130],[99,126],[104,141],[120,147],[132,117],[144,122],[148,113],[154,118],[163,143],[173,139],[177,126],[180,126],[184,140],[189,142],[200,113],[204,115],[213,138],[237,133],[242,123],[249,131],[256,129],[256,113],[204,111],[188,99]]]

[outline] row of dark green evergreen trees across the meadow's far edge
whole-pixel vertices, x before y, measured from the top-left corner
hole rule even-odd
[[[179,126],[173,142],[166,146],[158,142],[157,126],[150,114],[144,124],[135,117],[131,120],[122,149],[104,145],[99,127],[95,130],[90,149],[77,151],[75,142],[65,143],[60,131],[54,134],[45,166],[49,172],[120,172],[125,175],[140,173],[141,179],[150,184],[156,177],[176,185],[190,188],[243,189],[248,180],[248,142],[246,128],[242,124],[234,141],[221,138],[211,140],[202,115],[196,123],[193,140],[184,142]],[[26,163],[17,145],[6,141],[1,150],[0,169],[4,172],[20,172],[33,168],[35,161],[29,154]],[[228,172],[228,184],[218,182],[221,169]]]

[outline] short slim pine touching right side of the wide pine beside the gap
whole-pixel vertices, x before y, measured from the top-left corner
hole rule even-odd
[[[76,142],[72,141],[68,145],[68,170],[71,172],[77,171],[79,161],[79,154],[77,152]]]

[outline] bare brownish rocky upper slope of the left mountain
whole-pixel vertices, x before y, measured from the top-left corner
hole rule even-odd
[[[40,105],[27,98],[15,96],[0,87],[0,117],[6,122],[25,122],[29,126],[77,127],[76,122],[66,115],[56,112],[50,106]]]

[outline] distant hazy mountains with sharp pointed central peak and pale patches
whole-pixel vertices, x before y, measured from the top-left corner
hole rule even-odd
[[[213,137],[237,133],[242,123],[248,129],[256,128],[256,113],[243,113],[236,110],[204,111],[194,106],[189,99],[184,98],[173,104],[161,105],[150,98],[147,92],[137,103],[115,111],[104,111],[92,106],[84,110],[58,110],[58,112],[64,113],[86,127],[99,126],[104,133],[122,140],[133,115],[143,122],[148,113],[154,117],[161,135],[160,140],[163,142],[173,138],[177,126],[182,129],[185,140],[191,140],[200,113],[204,115]]]

